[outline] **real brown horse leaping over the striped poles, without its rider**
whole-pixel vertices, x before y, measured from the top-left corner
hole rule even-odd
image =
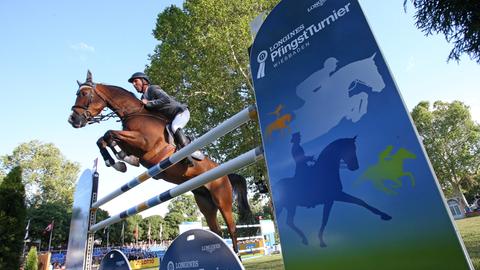
[[[124,171],[126,167],[122,161],[114,161],[107,151],[107,146],[118,159],[136,166],[141,164],[146,168],[162,161],[174,151],[174,147],[167,140],[166,118],[158,112],[146,110],[133,93],[118,86],[94,83],[90,71],[87,72],[84,83],[79,81],[77,83],[79,85],[77,97],[68,118],[68,122],[74,128],[98,122],[96,117],[106,107],[122,122],[123,130],[108,130],[97,141],[106,166],[113,166],[120,171]],[[201,161],[193,161],[193,166],[179,162],[154,178],[178,185],[217,166],[217,163],[205,157]],[[242,176],[229,174],[192,192],[208,227],[221,236],[221,228],[217,221],[217,212],[220,210],[227,224],[233,249],[238,253],[236,227],[232,215],[233,191],[237,195],[239,219],[247,220],[251,217],[251,209],[247,199],[246,180]]]

